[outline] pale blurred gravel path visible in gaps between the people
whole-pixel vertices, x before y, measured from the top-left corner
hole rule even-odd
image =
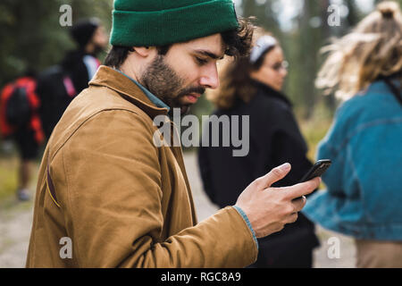
[[[202,221],[214,214],[217,207],[206,198],[203,192],[196,154],[186,153],[184,159],[197,207],[198,220]],[[24,267],[32,223],[32,206],[32,202],[18,203],[14,198],[0,205],[0,268]],[[317,227],[317,235],[321,240],[321,247],[314,251],[314,267],[354,267],[356,248],[353,240],[320,227]],[[338,253],[333,251],[337,245],[339,245]]]

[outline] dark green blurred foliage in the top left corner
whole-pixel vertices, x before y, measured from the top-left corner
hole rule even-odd
[[[94,4],[96,3],[96,4]],[[72,23],[98,17],[109,29],[112,0],[2,0],[0,2],[0,86],[27,69],[42,71],[74,48],[69,27],[62,27],[60,7],[70,4]]]

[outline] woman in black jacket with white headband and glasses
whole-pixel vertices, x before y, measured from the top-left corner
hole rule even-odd
[[[247,156],[233,156],[235,147],[200,145],[198,164],[204,189],[220,207],[233,205],[250,182],[279,164],[288,162],[292,169],[276,187],[297,183],[313,165],[306,157],[306,142],[292,105],[281,93],[287,63],[275,38],[258,38],[251,55],[229,63],[222,75],[221,88],[208,98],[217,107],[214,114],[218,117],[249,116],[249,150]],[[209,135],[211,139],[213,134]],[[296,223],[258,241],[259,255],[252,267],[312,267],[319,240],[314,224],[298,215]]]

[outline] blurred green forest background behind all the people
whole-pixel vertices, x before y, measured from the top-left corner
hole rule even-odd
[[[339,37],[348,32],[364,15],[372,12],[375,4],[380,1],[234,2],[239,15],[255,16],[256,24],[271,31],[280,40],[289,62],[289,75],[284,91],[294,104],[297,119],[310,147],[310,156],[313,158],[315,146],[331,125],[332,116],[339,104],[331,95],[322,97],[322,92],[314,88],[314,79],[323,59],[319,53],[320,48],[328,44],[331,37]],[[2,0],[0,88],[29,67],[43,71],[46,67],[59,63],[66,51],[74,48],[69,37],[69,27],[60,25],[60,17],[63,15],[60,8],[63,4],[71,5],[72,24],[80,18],[96,16],[103,21],[107,32],[110,31],[113,0]],[[331,17],[338,17],[339,22],[334,24]],[[192,112],[200,116],[210,114],[212,110],[213,106],[202,97]],[[4,156],[4,149],[0,148],[3,150],[0,151],[0,156]],[[5,177],[11,176],[4,168],[2,170],[0,183]],[[15,178],[15,175],[12,177]]]

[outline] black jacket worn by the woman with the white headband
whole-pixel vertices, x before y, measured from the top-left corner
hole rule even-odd
[[[217,116],[249,115],[248,155],[232,156],[236,147],[203,147],[202,144],[199,147],[198,164],[205,192],[220,207],[234,205],[248,184],[280,164],[289,162],[292,169],[274,184],[277,187],[296,184],[313,165],[306,157],[306,142],[287,97],[258,81],[253,83],[256,92],[248,104],[239,100],[230,110],[214,112]],[[297,246],[291,246],[296,242]],[[284,265],[279,263],[286,256],[284,249],[293,248],[291,251],[295,256],[295,248],[311,250],[318,245],[318,240],[314,235],[314,224],[299,213],[296,223],[286,225],[282,231],[259,240],[259,243],[261,256],[270,253],[269,259],[264,258],[263,266],[267,266],[269,260],[268,265],[287,267],[286,262]]]

